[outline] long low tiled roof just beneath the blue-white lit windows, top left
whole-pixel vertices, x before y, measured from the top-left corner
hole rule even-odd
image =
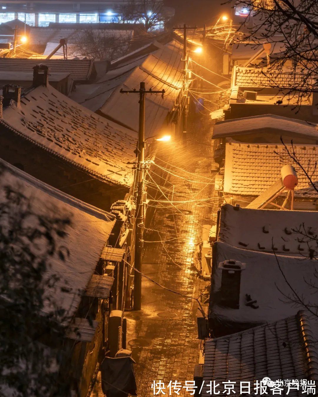
[[[59,43],[60,39],[66,39],[68,44],[80,44],[87,39],[87,35],[94,37],[114,37],[117,40],[130,41],[134,35],[133,30],[109,30],[109,29],[54,29],[49,27],[31,27],[28,36],[29,44]]]

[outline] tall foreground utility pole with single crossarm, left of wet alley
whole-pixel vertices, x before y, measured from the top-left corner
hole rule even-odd
[[[144,177],[144,161],[145,161],[145,102],[146,94],[164,94],[165,90],[146,91],[145,83],[140,83],[140,89],[137,91],[124,91],[120,90],[122,94],[139,94],[139,130],[138,130],[138,143],[136,154],[137,168],[135,183],[137,183],[137,198],[136,198],[136,224],[135,224],[135,274],[134,274],[134,310],[142,308],[142,251],[143,251],[143,177]]]

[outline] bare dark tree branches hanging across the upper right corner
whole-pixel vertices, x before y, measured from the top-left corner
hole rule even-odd
[[[269,87],[300,98],[318,92],[318,2],[316,0],[237,0],[247,17],[239,27],[244,33],[237,43],[269,42],[280,50],[271,54],[271,63],[261,73]],[[243,45],[244,45],[243,44]],[[256,66],[256,67],[262,67]],[[289,77],[280,81],[277,73]]]

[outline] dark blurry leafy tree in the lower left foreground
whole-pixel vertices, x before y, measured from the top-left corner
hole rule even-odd
[[[60,370],[63,354],[70,351],[63,345],[62,324],[70,316],[46,291],[59,288],[58,276],[48,276],[47,270],[54,255],[64,260],[65,249],[57,241],[72,226],[68,218],[35,214],[29,198],[10,186],[4,187],[2,196],[0,396],[66,396],[70,379]]]

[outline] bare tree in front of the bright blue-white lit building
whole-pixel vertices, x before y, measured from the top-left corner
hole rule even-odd
[[[163,0],[129,0],[120,7],[122,23],[143,23],[147,32],[159,29],[166,21]]]

